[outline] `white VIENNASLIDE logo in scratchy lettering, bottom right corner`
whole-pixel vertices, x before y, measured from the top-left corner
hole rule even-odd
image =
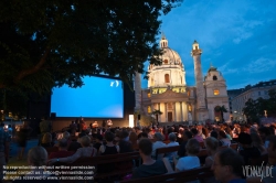
[[[264,162],[262,165],[243,165],[243,174],[246,177],[251,176],[258,176],[261,177],[261,182],[263,181],[264,177],[273,177],[272,174],[273,171],[273,165],[264,165]]]

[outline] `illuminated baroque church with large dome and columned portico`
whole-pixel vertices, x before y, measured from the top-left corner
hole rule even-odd
[[[136,111],[150,116],[152,111],[160,110],[159,122],[205,122],[230,121],[230,114],[217,111],[224,106],[229,110],[226,83],[222,74],[211,66],[203,77],[201,68],[202,50],[199,43],[192,44],[191,56],[194,63],[195,86],[185,83],[184,63],[179,54],[168,46],[168,40],[162,35],[160,49],[161,65],[148,66],[148,88],[140,87],[140,75],[136,75]]]

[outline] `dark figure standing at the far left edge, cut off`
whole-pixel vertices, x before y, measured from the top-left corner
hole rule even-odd
[[[11,137],[0,128],[0,180],[3,179],[3,165],[9,161]]]

